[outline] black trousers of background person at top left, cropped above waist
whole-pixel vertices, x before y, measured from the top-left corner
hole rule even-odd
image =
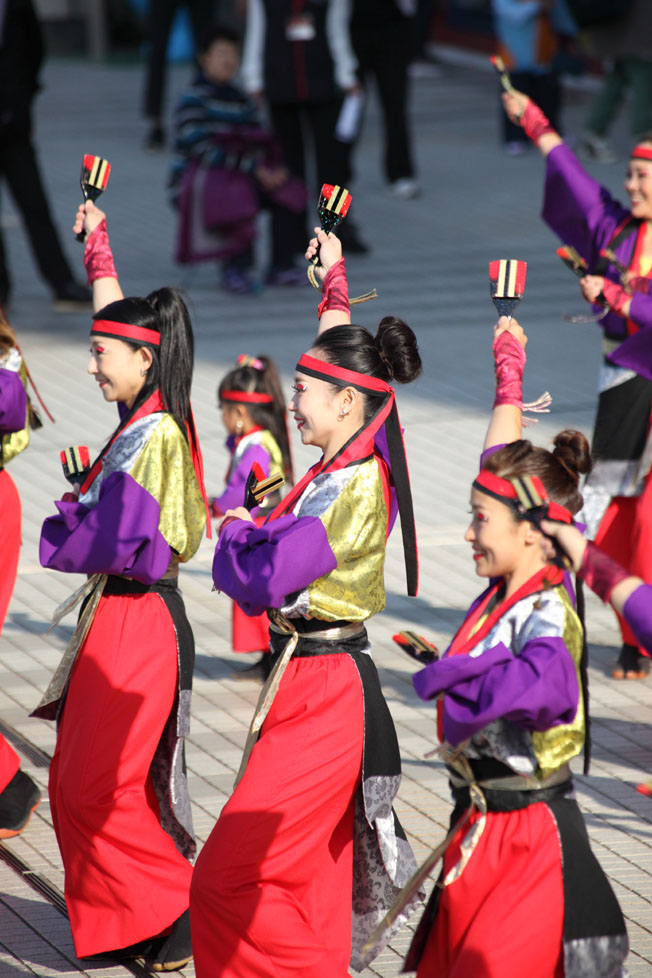
[[[165,66],[172,22],[179,7],[187,7],[195,42],[213,23],[214,0],[151,0],[149,12],[150,54],[145,80],[145,115],[160,119],[165,93]]]

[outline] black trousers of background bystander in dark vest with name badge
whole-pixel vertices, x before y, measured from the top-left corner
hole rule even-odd
[[[324,102],[276,102],[269,107],[272,129],[280,144],[283,162],[309,188],[312,181],[307,178],[306,149],[314,158],[313,172],[317,184],[313,188],[315,204],[323,183],[347,186],[350,180],[348,148],[335,139],[335,125],[341,107],[340,98]],[[306,250],[307,235],[311,235],[316,226],[316,215],[311,221],[308,227],[307,211],[287,217],[288,224],[294,228],[292,250],[296,254],[301,255]],[[285,224],[283,233],[287,233]]]

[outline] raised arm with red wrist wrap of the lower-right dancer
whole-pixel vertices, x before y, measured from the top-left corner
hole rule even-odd
[[[509,445],[521,437],[523,368],[527,336],[515,319],[501,316],[494,326],[496,396],[483,451]]]

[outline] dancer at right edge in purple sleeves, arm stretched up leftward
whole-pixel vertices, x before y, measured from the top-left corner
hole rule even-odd
[[[652,133],[639,138],[625,177],[630,209],[581,166],[539,107],[503,95],[510,119],[546,160],[543,219],[587,262],[584,297],[597,299],[605,360],[593,433],[595,465],[584,490],[583,518],[596,543],[630,573],[652,579]],[[610,249],[613,259],[604,254]],[[597,531],[597,532],[596,532]],[[623,646],[614,679],[641,679],[650,660],[621,618]]]

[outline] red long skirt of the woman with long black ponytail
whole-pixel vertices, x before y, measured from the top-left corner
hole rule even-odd
[[[177,671],[176,633],[160,595],[100,599],[50,766],[79,957],[153,937],[188,907],[192,867],[160,825],[149,776]]]

